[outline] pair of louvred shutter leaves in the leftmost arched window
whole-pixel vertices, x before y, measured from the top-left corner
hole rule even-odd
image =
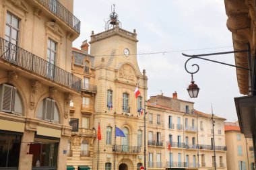
[[[2,84],[0,91],[0,110],[2,112],[15,113],[15,97],[17,89],[12,85]]]

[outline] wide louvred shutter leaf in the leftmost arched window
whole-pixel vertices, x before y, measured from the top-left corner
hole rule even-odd
[[[11,97],[13,86],[3,84],[1,86],[1,111],[11,112]]]

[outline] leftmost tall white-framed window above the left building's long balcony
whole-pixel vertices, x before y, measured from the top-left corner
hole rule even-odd
[[[15,17],[11,13],[6,14],[6,25],[5,25],[5,40],[12,44],[18,45],[19,38],[19,25],[20,21],[18,17]]]

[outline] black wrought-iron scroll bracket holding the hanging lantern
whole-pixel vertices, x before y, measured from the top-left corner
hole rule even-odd
[[[187,56],[189,57],[189,59],[187,59],[187,61],[185,62],[185,70],[187,71],[187,73],[193,75],[195,73],[197,73],[199,71],[199,65],[197,64],[193,64],[192,67],[197,67],[197,70],[196,71],[188,71],[187,70],[187,62],[189,62],[189,60],[191,59],[194,59],[194,58],[199,58],[201,60],[207,60],[207,61],[211,61],[211,62],[216,62],[216,63],[219,63],[219,64],[222,64],[222,65],[228,65],[230,67],[236,67],[238,69],[243,69],[243,70],[247,70],[247,71],[251,71],[251,69],[248,69],[248,68],[245,68],[245,67],[239,67],[239,66],[236,66],[236,65],[230,65],[226,62],[220,62],[220,61],[217,61],[217,60],[210,60],[210,59],[207,59],[207,58],[202,58],[200,56],[214,56],[214,55],[222,55],[222,54],[231,54],[231,53],[239,53],[239,52],[249,52],[249,50],[236,50],[236,51],[227,51],[227,52],[216,52],[216,53],[208,53],[208,54],[197,54],[197,55],[188,55],[188,54],[183,54],[183,56]]]

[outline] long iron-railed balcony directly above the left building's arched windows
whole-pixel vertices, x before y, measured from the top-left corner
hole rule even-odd
[[[0,60],[20,67],[29,75],[36,73],[37,76],[43,77],[42,79],[54,81],[77,92],[81,91],[80,78],[3,38],[0,38]]]

